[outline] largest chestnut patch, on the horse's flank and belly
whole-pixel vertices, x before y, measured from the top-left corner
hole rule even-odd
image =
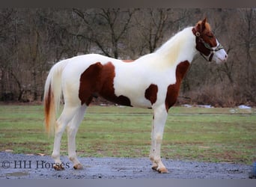
[[[132,106],[127,96],[116,96],[114,89],[115,66],[109,62],[91,64],[80,76],[79,99],[89,105],[98,95],[120,105]]]

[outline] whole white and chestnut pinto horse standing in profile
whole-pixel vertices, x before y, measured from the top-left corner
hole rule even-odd
[[[46,131],[55,134],[55,170],[64,169],[60,146],[66,127],[68,158],[74,169],[83,168],[76,156],[76,132],[92,99],[102,96],[118,105],[153,109],[149,157],[153,170],[168,173],[160,156],[165,121],[177,100],[180,83],[198,53],[217,64],[228,58],[207,18],[183,28],[155,52],[135,61],[87,54],[54,64],[46,79],[43,105]],[[62,95],[64,109],[56,120]]]

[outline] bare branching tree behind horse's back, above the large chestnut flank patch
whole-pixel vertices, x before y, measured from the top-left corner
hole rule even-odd
[[[135,9],[108,8],[86,11],[74,8],[73,11],[84,21],[89,32],[77,36],[94,42],[104,55],[118,58]]]

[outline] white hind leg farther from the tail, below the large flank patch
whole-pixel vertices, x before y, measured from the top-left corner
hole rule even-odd
[[[68,157],[71,162],[73,162],[74,169],[82,169],[82,164],[76,157],[76,132],[79,129],[79,124],[84,118],[85,110],[87,106],[82,105],[76,112],[73,119],[67,125],[67,147],[68,147]]]

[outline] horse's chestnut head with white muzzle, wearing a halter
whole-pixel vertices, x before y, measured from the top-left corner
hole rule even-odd
[[[211,31],[210,24],[206,18],[203,21],[199,21],[192,28],[192,32],[195,34],[195,48],[207,61],[213,60],[217,64],[227,61],[228,55],[214,36],[213,31]]]

